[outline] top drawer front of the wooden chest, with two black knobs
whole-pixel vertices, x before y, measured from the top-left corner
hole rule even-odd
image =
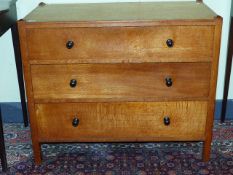
[[[27,29],[27,44],[34,62],[197,62],[211,60],[213,33],[213,26],[36,28]]]

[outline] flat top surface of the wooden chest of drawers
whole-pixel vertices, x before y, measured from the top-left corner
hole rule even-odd
[[[217,15],[204,3],[129,2],[42,4],[26,22],[213,20]]]

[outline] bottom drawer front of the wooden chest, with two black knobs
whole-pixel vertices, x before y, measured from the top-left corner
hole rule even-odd
[[[207,102],[36,104],[41,142],[204,140]]]

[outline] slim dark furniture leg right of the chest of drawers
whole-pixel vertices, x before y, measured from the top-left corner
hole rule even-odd
[[[229,35],[229,45],[228,45],[228,55],[227,55],[227,63],[226,63],[226,71],[225,71],[223,103],[222,103],[222,111],[221,111],[221,122],[224,122],[225,118],[226,118],[227,99],[228,99],[230,77],[231,77],[232,56],[233,56],[233,17],[231,18],[231,28],[230,28],[230,35]]]

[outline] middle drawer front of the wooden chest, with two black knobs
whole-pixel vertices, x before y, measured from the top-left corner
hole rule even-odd
[[[209,63],[32,65],[31,74],[45,101],[205,100],[210,84]]]

